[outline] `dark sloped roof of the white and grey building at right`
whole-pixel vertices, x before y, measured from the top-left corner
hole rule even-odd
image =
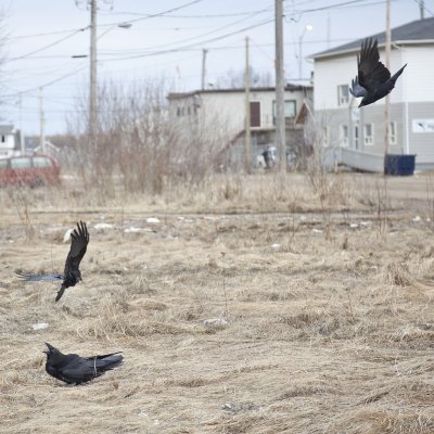
[[[367,38],[376,39],[379,41],[379,46],[381,46],[385,43],[386,35],[385,31],[382,31],[375,35],[368,36]],[[366,38],[357,39],[353,42],[345,43],[344,46],[321,51],[311,55],[310,58],[327,58],[329,55],[359,50],[361,42],[365,39]],[[411,23],[407,23],[403,26],[392,29],[392,42],[394,43],[414,43],[421,41],[430,41],[434,43],[434,17],[412,21]]]

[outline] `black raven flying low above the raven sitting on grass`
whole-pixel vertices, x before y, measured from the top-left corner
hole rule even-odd
[[[89,232],[86,224],[82,221],[77,224],[77,229],[71,233],[72,242],[71,250],[66,258],[65,269],[63,275],[36,275],[27,272],[17,272],[17,276],[27,281],[59,281],[62,280],[61,289],[58,292],[55,301],[59,302],[65,292],[66,288],[75,286],[81,280],[81,272],[79,270],[79,265],[85,256],[86,248],[89,243]]]

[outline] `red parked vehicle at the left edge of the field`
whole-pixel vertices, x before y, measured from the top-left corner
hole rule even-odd
[[[58,162],[48,155],[0,158],[0,186],[30,186],[60,182]]]

